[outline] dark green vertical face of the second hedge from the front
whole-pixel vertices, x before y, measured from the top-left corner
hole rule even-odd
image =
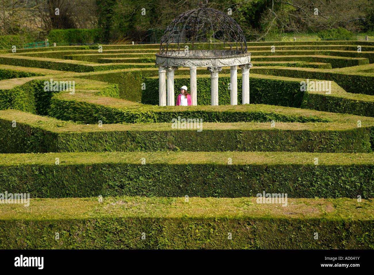
[[[64,162],[62,156],[60,162]],[[256,196],[267,190],[288,193],[289,198],[374,197],[373,164],[313,165],[312,159],[310,163],[141,165],[140,161],[139,164],[120,161],[117,164],[1,165],[0,193],[30,193],[32,198],[98,195],[236,198]]]

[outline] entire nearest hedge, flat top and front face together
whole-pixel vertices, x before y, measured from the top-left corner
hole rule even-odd
[[[97,198],[75,198],[74,202],[61,199],[59,207],[64,210],[61,211],[62,217],[46,213],[46,209],[55,208],[52,207],[55,201],[42,200],[46,201],[44,204],[32,201],[38,209],[42,209],[40,213],[45,217],[41,214],[30,217],[28,214],[27,218],[17,218],[28,207],[20,209],[16,217],[1,217],[0,248],[373,249],[373,220],[348,217],[349,213],[357,212],[355,207],[371,209],[371,205],[364,201],[290,199],[289,203],[292,201],[298,205],[334,205],[331,207],[334,210],[325,214],[318,212],[313,217],[307,214],[313,209],[307,208],[303,214],[289,212],[281,217],[273,209],[266,216],[252,214],[250,210],[257,208],[252,198],[190,198],[187,206],[181,202],[183,199],[113,198],[101,204]],[[207,202],[202,203],[203,200]],[[343,205],[349,205],[345,207],[349,212],[335,217],[338,211],[345,210]],[[74,214],[77,206],[85,209],[86,215]],[[139,213],[136,206],[140,210],[147,206],[146,214]],[[232,211],[222,213],[225,207]],[[206,212],[204,209],[211,208],[220,213],[210,216],[200,214]],[[191,209],[187,210],[188,216],[180,212],[174,214],[176,210],[183,209]],[[234,211],[243,214],[239,216]],[[132,213],[139,213],[139,216]],[[59,232],[59,240],[55,240],[56,232]],[[141,238],[142,232],[145,239]],[[228,239],[229,232],[232,239]],[[317,240],[314,239],[315,232],[318,232]]]

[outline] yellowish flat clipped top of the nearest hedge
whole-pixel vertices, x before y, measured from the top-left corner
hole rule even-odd
[[[372,220],[372,199],[287,199],[287,205],[258,204],[257,198],[105,197],[30,199],[30,206],[0,204],[0,220],[90,219],[95,217],[162,218],[302,218]]]

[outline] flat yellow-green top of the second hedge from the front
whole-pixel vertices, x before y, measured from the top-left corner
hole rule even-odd
[[[0,154],[0,165],[59,165],[124,163],[147,164],[217,164],[228,165],[374,165],[374,153],[305,153],[305,152],[74,152]]]

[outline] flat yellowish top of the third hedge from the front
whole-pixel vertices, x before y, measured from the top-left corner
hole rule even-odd
[[[113,98],[113,100],[116,100]],[[128,101],[129,102],[129,101]],[[129,104],[132,104],[129,102]],[[253,108],[246,106],[248,109],[258,108],[260,111],[264,111],[266,105],[257,104]],[[274,106],[273,106],[274,107]],[[163,108],[163,107],[161,107]],[[164,107],[165,108],[165,107]],[[173,108],[173,107],[171,107]],[[174,107],[175,108],[175,107]],[[260,109],[261,108],[261,109]],[[312,115],[317,114],[317,111],[310,111],[306,109],[296,109],[289,107],[282,107],[293,110],[304,110],[306,112],[314,112]],[[166,109],[166,108],[165,108]],[[213,109],[213,108],[212,108]],[[218,108],[217,108],[218,109]],[[277,110],[274,108],[274,111]],[[285,109],[283,109],[285,110]],[[282,111],[283,111],[282,110]],[[326,112],[318,111],[320,114],[329,114]],[[203,122],[201,125],[203,130],[257,130],[257,129],[269,129],[269,130],[315,130],[315,131],[337,131],[347,129],[357,129],[357,121],[361,120],[362,127],[373,126],[374,119],[372,117],[364,116],[353,116],[348,114],[330,113],[335,121],[332,122],[277,122],[275,127],[271,127],[270,122]],[[340,117],[338,115],[341,115]],[[325,116],[327,117],[327,116]],[[98,124],[78,124],[72,121],[65,121],[55,119],[53,117],[39,116],[36,114],[26,113],[18,110],[0,110],[0,119],[8,120],[9,125],[12,125],[12,121],[16,120],[17,123],[24,123],[34,128],[45,129],[46,131],[64,133],[64,132],[106,132],[106,131],[197,131],[196,129],[172,129],[172,123],[114,123],[114,124],[102,124],[102,127],[98,127]]]

